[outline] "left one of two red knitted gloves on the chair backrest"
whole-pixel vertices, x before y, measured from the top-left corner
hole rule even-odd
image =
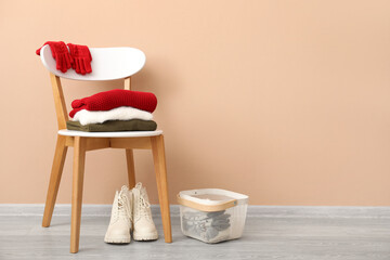
[[[47,41],[43,46],[49,44],[50,50],[52,51],[53,58],[56,62],[56,69],[61,70],[62,73],[66,73],[70,68],[72,64],[72,56],[66,48],[65,42],[63,41]],[[42,46],[42,47],[43,47]],[[36,53],[40,55],[39,48]]]

